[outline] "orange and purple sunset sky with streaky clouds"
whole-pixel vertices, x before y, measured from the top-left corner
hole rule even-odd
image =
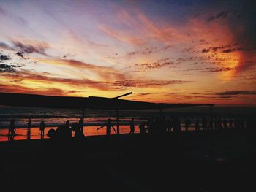
[[[0,91],[256,106],[254,1],[0,1]]]

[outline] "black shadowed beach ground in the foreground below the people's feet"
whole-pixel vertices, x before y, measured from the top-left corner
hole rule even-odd
[[[0,191],[256,191],[254,130],[1,142],[0,154]]]

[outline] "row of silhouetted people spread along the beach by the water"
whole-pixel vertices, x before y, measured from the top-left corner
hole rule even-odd
[[[189,118],[184,118],[184,131],[189,131],[191,128],[192,120]],[[31,137],[31,118],[27,123],[27,139]],[[254,118],[196,118],[194,123],[194,130],[220,130],[226,128],[254,128],[256,124],[256,120]],[[41,139],[44,139],[45,136],[45,122],[42,120],[39,124],[39,131]],[[111,130],[117,134],[116,129],[114,128],[111,119],[109,118],[106,123],[102,126],[97,128],[97,130],[106,127],[106,135],[109,136],[111,134]],[[138,129],[140,134],[155,134],[155,133],[165,133],[165,132],[172,132],[172,133],[181,133],[181,120],[177,117],[151,117],[148,118],[146,122],[142,122],[138,125]],[[135,120],[132,118],[129,122],[129,134],[135,133]],[[15,120],[10,120],[9,125],[9,133],[8,133],[8,140],[13,140],[16,135],[15,129]],[[50,138],[56,139],[70,139],[72,138],[73,132],[75,133],[75,139],[82,139],[84,137],[83,134],[83,119],[80,118],[78,123],[70,124],[69,120],[66,121],[64,125],[58,126],[56,130],[51,128],[48,131],[47,136]]]

